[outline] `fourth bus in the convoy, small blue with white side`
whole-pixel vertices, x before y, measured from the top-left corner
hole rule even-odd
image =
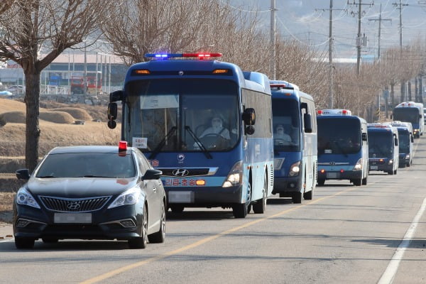
[[[367,124],[369,170],[396,175],[399,165],[398,129],[391,124]]]

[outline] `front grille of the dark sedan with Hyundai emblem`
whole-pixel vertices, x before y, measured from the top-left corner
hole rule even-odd
[[[102,209],[111,196],[89,198],[60,198],[40,196],[44,206],[56,212],[91,212]]]

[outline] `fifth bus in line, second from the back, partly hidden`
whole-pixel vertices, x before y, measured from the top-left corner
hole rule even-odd
[[[414,136],[410,122],[392,121],[391,125],[398,129],[399,167],[410,167],[413,163]]]

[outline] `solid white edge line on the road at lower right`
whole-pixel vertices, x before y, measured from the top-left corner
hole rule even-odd
[[[405,236],[403,241],[401,241],[400,245],[396,249],[395,253],[391,261],[386,268],[386,271],[381,275],[380,280],[378,280],[378,284],[390,284],[393,282],[393,278],[395,278],[395,274],[398,271],[398,266],[400,261],[403,259],[405,250],[410,246],[410,241],[415,233],[415,229],[417,228],[417,224],[419,224],[419,220],[422,217],[423,212],[426,209],[426,198],[423,200],[422,206],[419,211],[415,215],[413,222],[411,222],[410,227],[405,232]]]

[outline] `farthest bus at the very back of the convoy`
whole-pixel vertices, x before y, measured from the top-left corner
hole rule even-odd
[[[410,122],[413,125],[413,135],[420,138],[425,128],[423,104],[419,102],[401,102],[393,109],[393,120]]]

